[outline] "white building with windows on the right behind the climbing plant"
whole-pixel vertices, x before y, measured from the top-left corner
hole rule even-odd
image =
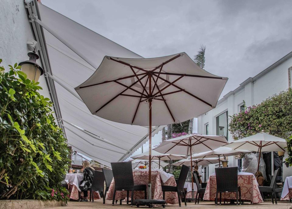
[[[292,71],[292,52],[273,63],[271,66],[257,74],[255,77],[249,77],[239,84],[234,91],[224,95],[217,103],[217,107],[198,117],[198,133],[210,135],[225,135],[228,142],[232,142],[232,135],[228,131],[228,116],[241,111],[243,101],[246,106],[252,106],[261,103],[273,94],[285,91],[291,87]],[[270,172],[273,173],[273,154],[263,153],[264,158],[269,159]],[[287,153],[283,159],[287,157]],[[228,166],[241,166],[242,160],[235,159],[233,156],[228,158]],[[267,163],[266,163],[267,164]],[[269,163],[268,163],[269,164]],[[203,180],[215,172],[213,164],[203,167]],[[267,167],[269,165],[266,165]],[[292,175],[292,169],[283,166],[283,179]]]

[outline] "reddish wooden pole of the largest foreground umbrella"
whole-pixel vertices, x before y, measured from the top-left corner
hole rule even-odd
[[[149,94],[151,94],[151,74],[149,77]],[[149,179],[148,179],[148,199],[151,199],[151,139],[152,139],[152,98],[148,100],[149,104]]]

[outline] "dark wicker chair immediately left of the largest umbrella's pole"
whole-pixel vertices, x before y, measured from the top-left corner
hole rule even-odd
[[[127,191],[127,205],[129,204],[129,191],[132,192],[131,206],[134,201],[134,191],[144,191],[147,199],[146,184],[135,185],[133,178],[133,169],[131,162],[111,163],[113,169],[113,178],[115,180],[115,190],[113,192],[113,203],[115,202],[116,191]]]

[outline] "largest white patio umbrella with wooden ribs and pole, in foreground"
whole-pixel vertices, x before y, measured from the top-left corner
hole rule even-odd
[[[75,90],[94,115],[151,127],[180,123],[213,109],[227,80],[203,70],[186,53],[149,59],[106,56]],[[151,199],[151,166],[148,185]]]

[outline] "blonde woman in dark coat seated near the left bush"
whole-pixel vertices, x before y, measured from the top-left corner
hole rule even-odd
[[[83,185],[83,202],[88,201],[88,190],[91,188],[92,180],[93,180],[93,174],[94,174],[94,168],[92,168],[87,160],[84,160],[82,162],[82,170],[83,171],[83,180],[80,182],[80,185]],[[93,197],[92,197],[93,198]]]

